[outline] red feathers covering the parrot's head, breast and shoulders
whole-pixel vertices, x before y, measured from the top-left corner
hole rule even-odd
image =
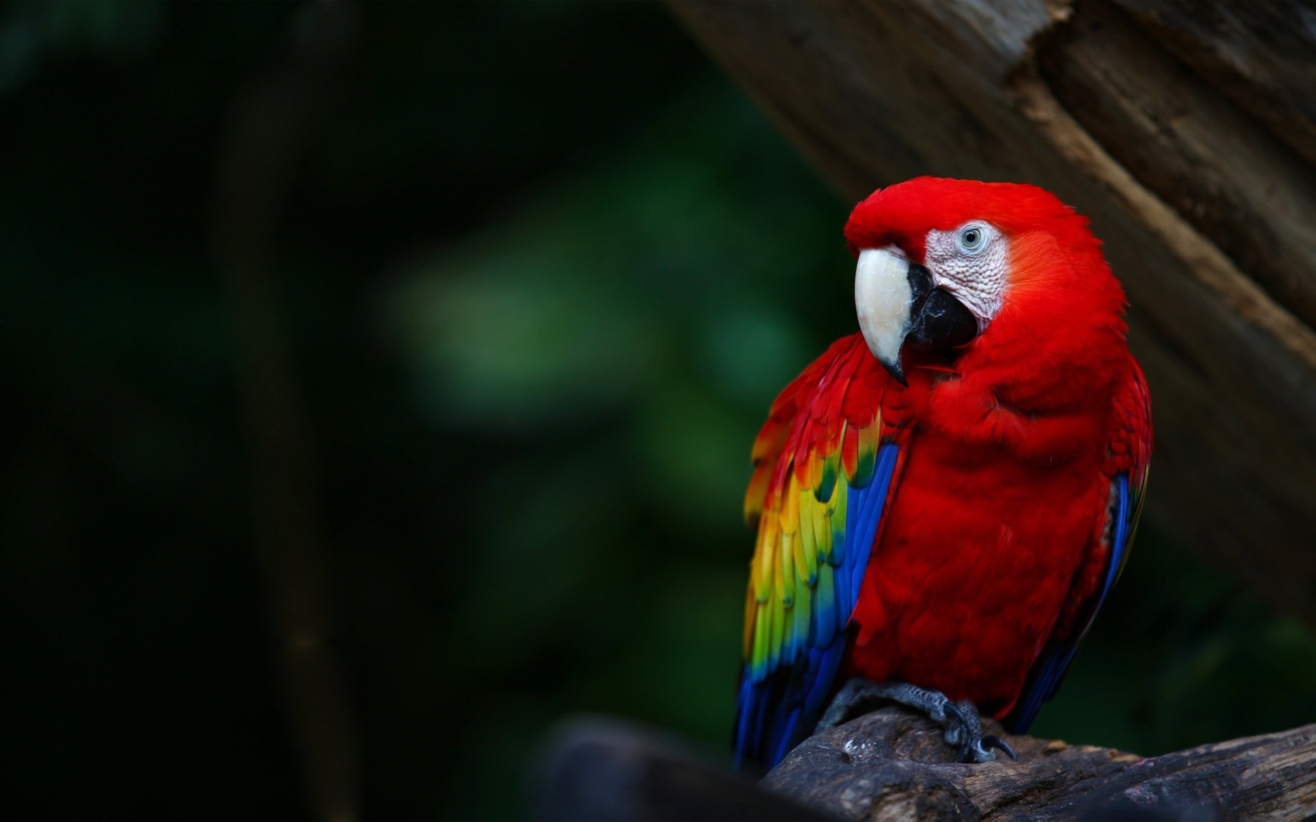
[[[1050,696],[1069,658],[1042,681],[1044,648],[1073,648],[1113,583],[1152,425],[1124,292],[1086,218],[1053,195],[923,178],[861,203],[845,235],[855,254],[895,247],[921,263],[929,231],[974,220],[1008,242],[1005,299],[990,325],[954,350],[907,346],[908,385],[861,334],[837,341],[772,405],[746,512],[771,512],[787,472],[812,476],[837,441],[853,464],[878,421],[870,435],[899,456],[830,688],[845,675],[901,680],[1004,719],[1026,689],[1046,690],[1038,704]],[[753,605],[751,585],[751,619]],[[749,648],[753,625],[746,634]]]

